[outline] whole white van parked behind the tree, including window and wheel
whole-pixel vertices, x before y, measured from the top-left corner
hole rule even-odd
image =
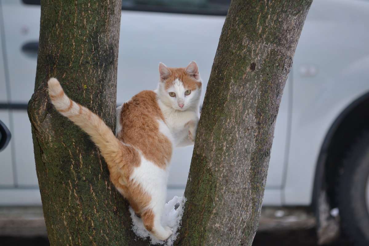
[[[230,1],[140,2],[122,4],[117,104],[155,89],[159,62],[182,67],[195,60],[206,88]],[[41,205],[26,112],[39,18],[37,0],[0,0],[0,120],[12,134],[0,153],[2,206]],[[313,205],[318,222],[339,208],[358,245],[369,245],[368,27],[369,0],[313,1],[284,89],[263,200]],[[175,150],[169,198],[183,192],[191,156],[192,148]]]

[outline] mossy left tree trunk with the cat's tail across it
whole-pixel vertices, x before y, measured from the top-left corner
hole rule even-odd
[[[87,134],[49,102],[46,82],[114,129],[121,0],[41,1],[35,91],[28,104],[36,170],[51,245],[131,243],[127,202]]]

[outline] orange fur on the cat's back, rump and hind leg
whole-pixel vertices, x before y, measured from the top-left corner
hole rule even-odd
[[[125,143],[120,151],[120,168],[110,168],[110,179],[114,186],[127,198],[145,228],[152,232],[154,213],[149,207],[151,196],[142,186],[130,180],[135,167],[141,164],[138,149],[146,160],[165,168],[172,156],[172,143],[159,131],[159,120],[165,121],[154,91],[141,91],[123,104],[120,124],[122,130],[117,138]],[[128,145],[128,146],[127,146]],[[132,147],[134,146],[134,147]],[[123,169],[123,170],[120,170]]]

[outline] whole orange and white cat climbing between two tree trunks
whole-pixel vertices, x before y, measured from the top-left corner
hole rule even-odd
[[[90,135],[99,147],[115,188],[145,228],[165,241],[172,229],[161,224],[173,148],[193,145],[199,122],[201,78],[196,62],[170,68],[159,63],[159,85],[117,108],[115,136],[102,119],[72,101],[59,81],[48,81],[56,110]]]

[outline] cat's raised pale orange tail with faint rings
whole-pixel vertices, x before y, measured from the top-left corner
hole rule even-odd
[[[64,93],[57,79],[51,78],[48,81],[48,88],[49,97],[56,110],[91,136],[92,141],[99,147],[108,166],[119,162],[120,160],[116,159],[116,153],[118,149],[122,149],[123,144],[114,136],[105,122],[88,108],[72,101]]]

